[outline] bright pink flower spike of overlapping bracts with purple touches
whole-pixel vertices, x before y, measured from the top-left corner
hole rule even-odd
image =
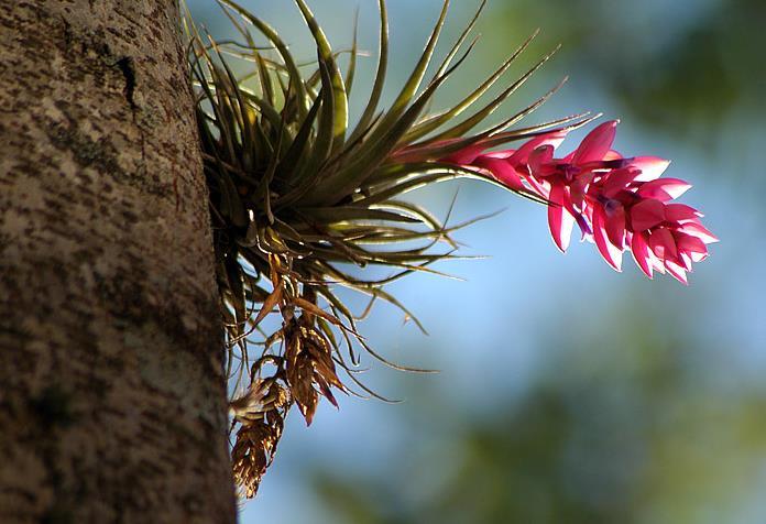
[[[691,187],[678,178],[660,178],[669,162],[656,156],[623,157],[612,150],[616,120],[598,125],[568,155],[555,157],[565,137],[556,131],[535,137],[517,150],[483,152],[477,145],[441,159],[499,181],[515,192],[548,200],[548,227],[566,251],[578,223],[582,238],[595,243],[616,271],[631,251],[638,268],[688,283],[692,262],[708,256],[718,239],[705,229],[702,214],[671,200]]]

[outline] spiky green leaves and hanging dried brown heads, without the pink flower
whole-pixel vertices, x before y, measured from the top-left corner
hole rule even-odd
[[[580,114],[510,130],[552,89],[513,117],[469,134],[550,57],[478,103],[534,35],[455,107],[426,112],[435,92],[469,56],[475,43],[469,35],[484,2],[426,78],[447,15],[445,1],[414,70],[391,107],[380,109],[389,40],[386,6],[379,0],[376,75],[353,124],[348,100],[355,35],[341,72],[342,53],[330,46],[306,2],[295,0],[317,52],[315,62],[300,65],[271,25],[231,0],[220,3],[240,41],[216,42],[188,22],[187,32],[228,374],[233,391],[247,387],[231,402],[232,429],[239,425],[232,458],[237,481],[250,498],[271,463],[291,406],[297,405],[310,424],[320,396],[337,406],[333,389],[353,392],[351,384],[379,396],[354,376],[359,348],[396,369],[409,369],[386,361],[366,343],[357,327],[359,317],[337,293],[344,287],[365,294],[370,306],[375,299],[389,302],[417,323],[384,285],[418,271],[436,272],[434,262],[455,258],[451,233],[464,223],[448,226],[403,195],[458,177],[492,182],[444,159],[466,148],[489,149],[590,119]],[[244,74],[236,73],[237,61],[247,64]],[[401,154],[405,149],[407,154]],[[365,277],[372,266],[392,272]],[[281,315],[281,327],[266,332],[261,323],[272,313]]]

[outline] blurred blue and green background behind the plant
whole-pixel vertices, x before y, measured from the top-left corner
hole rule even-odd
[[[289,0],[242,0],[314,56]],[[375,66],[372,0],[309,2],[338,48],[359,7],[359,113]],[[453,1],[442,53],[477,1]],[[199,23],[226,36],[211,0]],[[440,0],[390,0],[387,100],[414,66]],[[322,403],[310,428],[293,413],[243,523],[766,523],[766,2],[490,0],[471,58],[437,106],[491,73],[536,28],[507,75],[562,51],[494,121],[568,85],[526,122],[582,110],[621,118],[616,149],[672,159],[668,176],[722,241],[691,285],[613,272],[589,243],[566,255],[545,209],[489,185],[412,195],[453,220],[499,209],[458,239],[486,260],[441,265],[464,282],[416,275],[391,287],[426,325],[379,306],[362,326],[416,375],[364,375],[400,404]],[[582,132],[570,137],[574,148]],[[359,301],[358,307],[363,307]]]

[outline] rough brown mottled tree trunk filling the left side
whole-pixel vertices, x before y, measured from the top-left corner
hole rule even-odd
[[[174,0],[0,9],[0,522],[234,522]]]

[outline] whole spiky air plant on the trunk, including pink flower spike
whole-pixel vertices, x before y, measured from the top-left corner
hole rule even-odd
[[[445,23],[445,1],[413,73],[391,107],[381,110],[389,41],[386,7],[379,0],[377,72],[353,125],[348,100],[355,37],[343,74],[341,53],[330,46],[305,1],[295,3],[316,43],[317,61],[308,65],[296,62],[271,25],[232,0],[221,0],[221,6],[240,42],[216,42],[187,26],[227,326],[228,376],[236,395],[230,404],[232,430],[237,428],[232,461],[248,498],[274,457],[293,405],[310,424],[319,397],[337,406],[336,392],[351,393],[349,384],[377,396],[354,375],[359,348],[396,369],[408,369],[386,361],[366,343],[358,330],[360,317],[338,295],[344,287],[369,295],[370,306],[386,301],[417,323],[383,286],[417,271],[436,272],[434,262],[456,256],[451,234],[466,223],[442,223],[403,199],[406,192],[455,178],[493,183],[546,204],[550,232],[561,250],[577,223],[583,239],[593,241],[615,269],[627,250],[648,276],[654,270],[667,271],[682,282],[691,263],[707,256],[705,244],[715,240],[700,223],[699,212],[668,204],[689,186],[659,178],[666,161],[623,157],[611,149],[615,121],[597,127],[561,159],[554,156],[554,149],[566,133],[597,117],[582,113],[512,129],[560,86],[503,122],[471,133],[550,55],[456,121],[504,75],[532,37],[455,107],[426,114],[436,91],[473,47],[475,41],[466,43],[483,1],[424,84]],[[259,46],[256,37],[265,45]],[[249,72],[237,76],[232,57],[247,61]],[[521,145],[496,151],[507,143]],[[368,276],[372,266],[393,273]],[[280,314],[281,323],[266,332],[262,321],[272,313]]]

